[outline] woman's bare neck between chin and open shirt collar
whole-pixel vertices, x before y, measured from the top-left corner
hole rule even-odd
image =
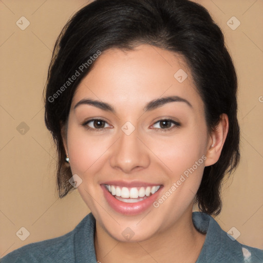
[[[120,242],[96,224],[95,250],[103,263],[195,263],[205,240],[192,221],[192,208],[169,229],[141,242]]]

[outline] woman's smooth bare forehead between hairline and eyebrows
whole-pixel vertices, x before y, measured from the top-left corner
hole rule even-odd
[[[179,96],[196,109],[203,103],[183,57],[151,45],[134,50],[108,49],[79,84],[72,106],[83,98],[110,102],[115,108],[143,107],[148,101]]]

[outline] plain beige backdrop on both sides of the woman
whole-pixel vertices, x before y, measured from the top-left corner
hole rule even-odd
[[[225,231],[235,227],[239,242],[263,249],[263,2],[197,2],[221,26],[239,77],[242,157],[224,186],[223,210],[216,220]],[[72,13],[86,3],[0,1],[1,256],[65,234],[89,212],[77,191],[62,200],[55,193],[56,157],[44,125],[42,98],[54,42]],[[25,30],[16,25],[21,16],[30,22]],[[232,16],[241,23],[235,30],[227,25]],[[237,25],[235,20],[230,23]],[[30,232],[25,241],[16,236],[21,227]]]

